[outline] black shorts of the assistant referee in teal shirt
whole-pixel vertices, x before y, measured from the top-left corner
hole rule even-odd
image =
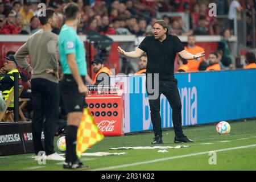
[[[85,83],[85,76],[82,76]],[[82,112],[87,106],[85,94],[79,93],[78,85],[72,75],[64,75],[60,82],[60,94],[63,100],[64,109],[67,113]]]

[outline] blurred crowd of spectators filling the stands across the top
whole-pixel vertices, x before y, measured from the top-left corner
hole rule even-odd
[[[38,0],[0,0],[0,34],[33,34],[40,28],[38,4],[46,3],[46,7],[54,9],[59,17],[59,29],[64,23],[63,8],[70,0],[38,1]],[[255,0],[76,0],[81,8],[82,20],[77,30],[86,34],[90,30],[101,34],[145,36],[151,34],[152,23],[156,20],[156,12],[184,12],[190,17],[189,31],[185,31],[182,19],[163,16],[174,35],[220,35],[226,27],[225,21],[210,17],[209,3],[216,3],[217,15],[228,15],[234,19],[237,9],[246,11],[247,24],[251,22],[251,10],[255,9]],[[230,23],[232,24],[232,23]],[[232,29],[232,26],[230,27]],[[249,28],[248,28],[249,29]],[[55,30],[58,34],[59,30]],[[248,32],[251,37],[251,31]],[[250,38],[247,38],[250,40]]]

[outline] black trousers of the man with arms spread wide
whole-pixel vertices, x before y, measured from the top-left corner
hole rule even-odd
[[[157,85],[156,85],[157,86]],[[148,89],[147,89],[148,90]],[[154,93],[152,93],[154,94]],[[179,90],[177,89],[177,79],[174,78],[173,81],[161,81],[159,80],[159,94],[158,98],[155,100],[150,99],[148,93],[149,104],[150,104],[150,116],[152,121],[152,126],[154,130],[155,137],[159,135],[162,137],[162,127],[161,127],[161,117],[160,117],[160,95],[164,94],[166,96],[169,104],[172,108],[172,122],[174,124],[175,136],[183,137],[182,122],[181,122],[181,101]]]

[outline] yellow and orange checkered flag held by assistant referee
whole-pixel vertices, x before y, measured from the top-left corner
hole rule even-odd
[[[80,158],[88,148],[104,139],[104,135],[94,123],[94,119],[88,108],[82,113],[80,126],[77,130],[76,154]]]

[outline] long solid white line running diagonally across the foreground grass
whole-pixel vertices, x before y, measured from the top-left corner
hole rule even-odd
[[[223,151],[236,150],[236,149],[240,149],[240,148],[249,148],[249,147],[256,147],[256,144],[251,144],[251,145],[249,145],[249,146],[241,146],[241,147],[233,147],[233,148],[224,148],[224,149],[220,149],[220,150],[211,150],[211,151],[223,152]],[[180,156],[172,156],[172,157],[169,157],[169,158],[148,160],[148,161],[138,162],[138,163],[123,164],[123,165],[119,165],[119,166],[110,166],[110,167],[104,167],[104,168],[96,168],[96,169],[92,169],[92,170],[90,170],[90,171],[105,171],[105,170],[116,169],[116,168],[122,168],[122,167],[138,166],[138,165],[141,165],[141,164],[155,163],[155,162],[161,162],[161,161],[165,161],[165,160],[172,160],[172,159],[179,159],[179,158],[187,158],[187,157],[190,157],[190,156],[209,154],[209,152],[210,152],[210,151],[199,152],[199,153],[193,153],[193,154],[187,154],[187,155],[180,155]]]

